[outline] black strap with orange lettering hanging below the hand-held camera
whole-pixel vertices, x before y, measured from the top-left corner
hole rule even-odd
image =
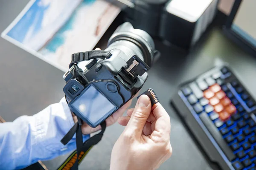
[[[76,150],[70,154],[70,156],[64,161],[58,170],[78,170],[78,165],[90,151],[90,149],[97,144],[103,136],[106,129],[106,123],[102,122],[102,130],[98,134],[94,135],[83,143],[83,135],[81,130],[82,120],[77,117],[78,122],[70,129],[70,131],[61,139],[61,143],[66,145],[74,134],[76,133]]]

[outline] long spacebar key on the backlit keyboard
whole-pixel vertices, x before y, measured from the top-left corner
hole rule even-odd
[[[224,152],[224,154],[227,156],[227,159],[232,161],[236,158],[230,147],[227,145],[227,143],[222,138],[221,133],[218,131],[218,129],[214,126],[212,123],[212,120],[209,119],[207,113],[201,113],[199,115],[201,121],[204,123],[204,125],[207,127],[209,133],[211,133],[212,137],[215,139],[215,141],[218,143],[221,150]]]

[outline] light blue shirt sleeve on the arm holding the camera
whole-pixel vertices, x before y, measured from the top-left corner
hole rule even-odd
[[[0,123],[0,169],[22,169],[38,160],[50,160],[76,149],[76,139],[60,141],[73,127],[70,109],[63,98],[33,116]],[[84,141],[90,135],[84,136]]]

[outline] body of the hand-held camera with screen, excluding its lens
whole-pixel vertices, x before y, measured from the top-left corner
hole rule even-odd
[[[145,71],[149,67],[136,55],[130,59],[121,50],[110,52],[109,59],[102,59],[89,69],[73,65],[73,70],[66,74],[63,91],[70,100],[69,108],[91,127],[98,126],[128,102],[148,77]],[[134,71],[139,76],[132,77],[126,71],[131,66],[129,60],[143,65]]]

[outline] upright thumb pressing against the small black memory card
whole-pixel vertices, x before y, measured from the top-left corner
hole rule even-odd
[[[147,122],[148,116],[151,113],[151,102],[148,96],[140,96],[134,111],[131,115],[125,131],[136,136],[141,136],[143,127]]]

